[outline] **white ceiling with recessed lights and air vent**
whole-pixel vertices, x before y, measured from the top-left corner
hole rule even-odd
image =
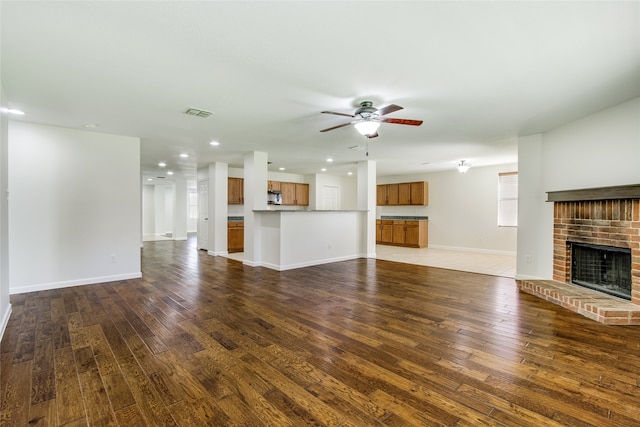
[[[0,14],[17,120],[138,136],[145,177],[159,161],[188,179],[242,167],[250,151],[297,174],[512,163],[518,135],[640,95],[635,1],[2,1]],[[349,120],[321,111],[362,100],[424,123],[383,124],[368,158],[351,126],[319,132]]]

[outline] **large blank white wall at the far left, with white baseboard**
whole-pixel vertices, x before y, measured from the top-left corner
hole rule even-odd
[[[141,277],[139,138],[11,121],[9,159],[11,293]]]

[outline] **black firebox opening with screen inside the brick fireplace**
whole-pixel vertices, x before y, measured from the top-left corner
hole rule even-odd
[[[570,244],[572,283],[631,300],[631,249]]]

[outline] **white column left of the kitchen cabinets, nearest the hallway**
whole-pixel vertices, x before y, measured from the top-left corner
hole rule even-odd
[[[227,247],[227,181],[229,166],[216,162],[209,165],[209,255],[226,255]]]

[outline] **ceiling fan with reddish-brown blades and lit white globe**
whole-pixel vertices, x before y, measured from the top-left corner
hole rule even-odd
[[[367,138],[375,138],[378,136],[378,128],[380,123],[394,123],[397,125],[409,125],[420,126],[422,120],[410,120],[410,119],[394,119],[390,117],[382,117],[386,114],[393,113],[394,111],[402,110],[403,107],[396,104],[389,104],[386,107],[380,109],[373,106],[371,101],[362,101],[360,107],[353,114],[336,113],[335,111],[322,111],[323,114],[335,114],[337,116],[352,117],[352,120],[347,123],[343,123],[338,126],[333,126],[327,129],[322,129],[320,132],[327,132],[330,130],[338,129],[344,126],[353,125],[360,134]]]

